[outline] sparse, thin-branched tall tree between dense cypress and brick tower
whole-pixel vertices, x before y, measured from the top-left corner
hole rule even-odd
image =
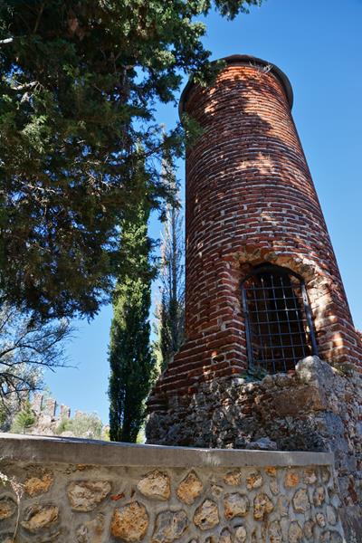
[[[163,163],[164,176],[176,193],[177,184],[171,157]],[[157,304],[157,342],[155,350],[161,370],[167,367],[184,340],[185,281],[183,218],[178,205],[167,205],[161,244],[160,293]]]

